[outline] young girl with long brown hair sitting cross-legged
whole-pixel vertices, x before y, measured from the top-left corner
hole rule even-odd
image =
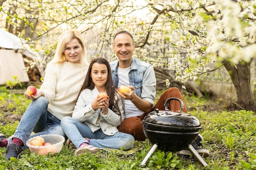
[[[100,92],[108,98],[97,98]],[[131,149],[134,137],[117,129],[123,120],[124,104],[113,85],[110,65],[104,58],[93,59],[72,118],[61,120],[65,134],[78,148],[75,156],[96,153],[99,148]]]

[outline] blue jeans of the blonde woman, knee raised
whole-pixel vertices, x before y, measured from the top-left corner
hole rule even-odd
[[[56,134],[65,137],[65,133],[61,127],[61,120],[49,113],[47,108],[48,100],[45,97],[40,96],[36,100],[32,100],[11,138],[19,138],[25,145],[29,138],[38,135]],[[32,131],[35,134],[31,135]],[[9,144],[11,138],[9,138]]]

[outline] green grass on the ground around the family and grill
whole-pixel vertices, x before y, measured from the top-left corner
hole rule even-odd
[[[24,90],[25,91],[25,90]],[[23,92],[22,92],[23,93]],[[0,92],[0,117],[6,113],[22,115],[29,100],[23,94],[14,94],[7,109],[1,110],[9,98],[9,91],[2,87]],[[157,98],[159,93],[157,94]],[[63,144],[60,153],[55,155],[36,155],[24,150],[20,159],[7,161],[3,158],[5,148],[0,148],[0,170],[9,169],[58,169],[58,170],[256,170],[256,117],[252,111],[227,111],[227,102],[184,96],[186,107],[191,115],[196,116],[203,128],[202,144],[210,151],[204,158],[208,166],[203,167],[195,157],[186,157],[177,153],[155,151],[145,166],[141,161],[153,146],[148,140],[135,142],[135,153],[121,155],[101,150],[96,154],[74,157],[74,149]],[[214,109],[215,108],[215,109]],[[216,109],[218,108],[218,109]],[[0,133],[10,137],[18,121],[0,125]]]

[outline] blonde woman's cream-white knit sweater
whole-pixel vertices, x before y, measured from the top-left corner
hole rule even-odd
[[[40,89],[49,102],[47,110],[59,120],[72,117],[87,71],[88,67],[81,71],[80,64],[71,62],[47,65]]]

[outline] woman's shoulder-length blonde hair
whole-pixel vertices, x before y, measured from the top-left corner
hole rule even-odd
[[[64,54],[64,50],[65,50],[66,44],[69,41],[71,41],[72,39],[77,39],[83,49],[82,55],[81,55],[82,70],[85,65],[87,65],[87,66],[89,65],[89,63],[87,61],[87,52],[85,49],[85,44],[84,44],[82,35],[78,30],[75,30],[75,29],[67,30],[67,31],[64,31],[63,33],[61,33],[61,35],[58,38],[58,44],[57,44],[57,48],[55,50],[54,58],[49,63],[64,63],[65,61],[67,61],[65,54]]]

